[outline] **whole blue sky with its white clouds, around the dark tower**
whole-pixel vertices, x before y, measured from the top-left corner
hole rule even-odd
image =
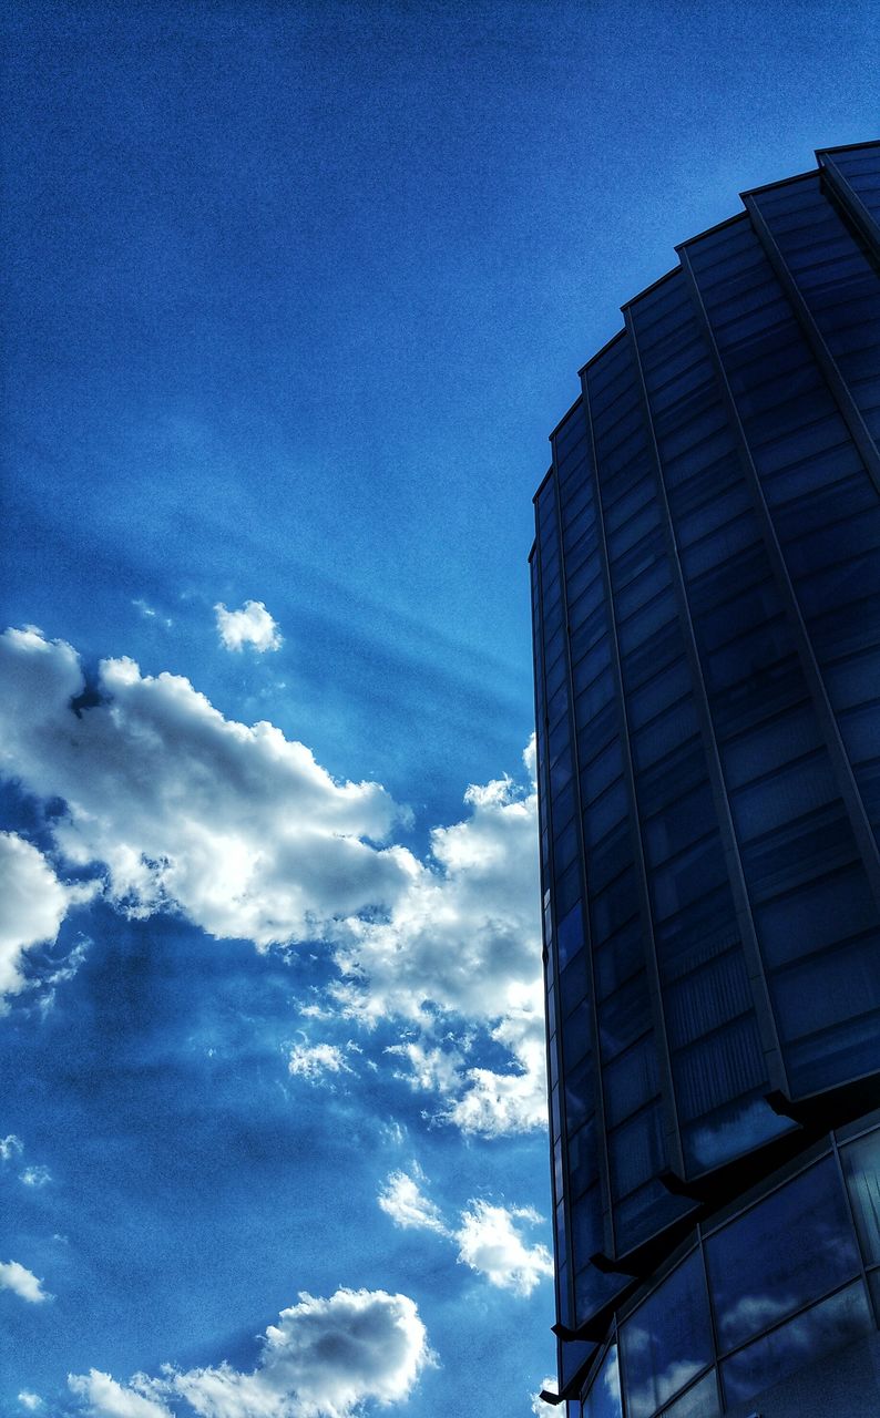
[[[6,21],[0,1411],[528,1415],[525,557],[619,305],[873,4]]]

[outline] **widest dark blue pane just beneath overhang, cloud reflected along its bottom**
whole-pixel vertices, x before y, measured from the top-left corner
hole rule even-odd
[[[835,1160],[810,1167],[710,1236],[705,1258],[722,1350],[856,1275],[859,1252]]]

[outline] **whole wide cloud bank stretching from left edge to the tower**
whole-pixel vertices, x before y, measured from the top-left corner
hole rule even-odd
[[[471,786],[463,820],[434,828],[419,861],[389,844],[406,813],[380,784],[335,780],[302,743],[226,719],[179,675],[106,659],[84,696],[75,651],[33,627],[0,635],[0,763],[65,803],[54,845],[99,873],[118,909],[177,910],[258,949],[322,942],[341,973],[325,1001],[366,1027],[409,1022],[402,1069],[439,1096],[437,1117],[481,1136],[545,1124],[534,786]],[[51,873],[35,848],[18,851]],[[70,903],[48,879],[54,910],[31,934],[57,930]],[[490,1035],[508,1066],[485,1066]],[[292,1072],[342,1071],[336,1044],[312,1048],[324,1052],[292,1055]]]

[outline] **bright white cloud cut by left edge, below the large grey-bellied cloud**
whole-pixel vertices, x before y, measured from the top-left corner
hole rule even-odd
[[[87,900],[91,886],[67,886],[31,842],[0,832],[0,1012],[3,997],[27,986],[24,953],[54,944],[71,905]],[[3,1154],[6,1156],[6,1154]]]

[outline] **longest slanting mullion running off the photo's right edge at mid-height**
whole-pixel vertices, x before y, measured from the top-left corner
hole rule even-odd
[[[734,438],[737,441],[737,447],[739,451],[739,459],[742,468],[745,469],[747,485],[752,493],[752,502],[758,513],[758,520],[762,529],[764,543],[768,550],[771,569],[776,579],[776,584],[782,596],[782,604],[785,605],[789,624],[795,634],[798,655],[812,695],[813,706],[816,710],[816,719],[819,722],[819,726],[825,737],[829,760],[832,764],[832,771],[837,783],[837,790],[843,800],[843,805],[846,808],[853,830],[853,835],[856,838],[856,845],[859,848],[867,879],[877,900],[877,908],[880,909],[880,855],[877,842],[874,839],[874,834],[871,831],[870,822],[864,811],[864,804],[862,801],[862,794],[859,793],[859,787],[853,776],[849,756],[846,753],[843,740],[840,737],[840,729],[837,727],[837,718],[827,698],[825,679],[822,678],[822,671],[816,661],[812,641],[809,638],[806,624],[803,621],[801,604],[798,601],[798,596],[795,593],[795,587],[789,576],[785,556],[782,553],[782,547],[776,536],[776,529],[774,526],[774,520],[771,518],[769,508],[764,496],[764,488],[761,486],[761,479],[758,478],[758,471],[755,468],[751,455],[751,448],[745,437],[742,421],[739,418],[739,410],[737,408],[737,401],[730,387],[727,370],[724,367],[724,360],[721,359],[718,345],[715,343],[715,335],[711,326],[711,320],[703,303],[703,295],[700,292],[700,286],[697,284],[697,278],[694,275],[694,269],[690,262],[687,245],[678,248],[678,255],[681,258],[681,269],[684,271],[688,289],[694,302],[694,309],[697,312],[697,316],[700,319],[708,345],[713,367],[718,377],[721,394],[731,421],[731,430],[734,432]]]

